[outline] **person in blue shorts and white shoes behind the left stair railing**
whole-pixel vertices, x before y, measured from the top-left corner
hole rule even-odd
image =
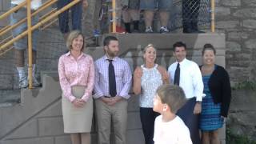
[[[22,2],[25,2],[26,0],[11,0],[11,8],[18,6]],[[34,10],[38,10],[40,6],[42,6],[42,1],[41,0],[31,0],[31,13],[34,12]],[[10,15],[10,25],[14,25],[23,18],[26,18],[26,5],[19,10],[15,11],[13,14]],[[35,15],[34,17],[31,18],[32,26],[38,23],[38,15]],[[27,30],[27,24],[26,22],[23,22],[21,25],[17,26],[12,30],[12,35],[13,37],[17,37],[18,34],[22,34]],[[36,63],[36,48],[37,48],[37,43],[38,43],[38,30],[34,30],[32,33],[32,64],[33,64],[33,70],[32,70],[32,75],[33,75],[33,86],[40,86],[40,83],[37,81],[35,78],[35,63]],[[18,86],[20,88],[26,88],[28,86],[28,81],[27,81],[27,76],[26,72],[24,69],[24,50],[27,48],[27,37],[21,38],[18,41],[14,42],[14,62],[15,66],[18,70]]]

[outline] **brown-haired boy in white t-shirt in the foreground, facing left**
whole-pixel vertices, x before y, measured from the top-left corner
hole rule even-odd
[[[170,84],[158,87],[153,110],[161,115],[154,122],[154,144],[192,144],[190,130],[176,115],[185,103],[181,87]]]

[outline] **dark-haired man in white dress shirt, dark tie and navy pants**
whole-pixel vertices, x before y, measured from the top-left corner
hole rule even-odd
[[[170,74],[170,82],[181,86],[187,98],[187,102],[177,115],[182,118],[186,126],[190,129],[190,137],[194,144],[200,144],[198,130],[198,114],[201,113],[201,102],[203,93],[202,74],[198,65],[186,59],[186,44],[176,42],[173,46],[173,54],[176,62],[168,68]]]

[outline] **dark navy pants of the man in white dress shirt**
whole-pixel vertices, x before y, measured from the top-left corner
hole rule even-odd
[[[193,114],[194,105],[196,103],[195,98],[190,98],[180,110],[178,110],[177,115],[182,118],[186,126],[190,130],[190,138],[193,144],[200,144],[199,136],[199,114]]]

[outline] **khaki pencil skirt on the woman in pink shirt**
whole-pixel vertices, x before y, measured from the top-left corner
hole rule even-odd
[[[86,87],[72,86],[71,92],[76,98],[82,98]],[[64,133],[88,133],[91,130],[93,118],[93,99],[90,96],[85,106],[75,107],[69,99],[62,94],[62,114]]]

